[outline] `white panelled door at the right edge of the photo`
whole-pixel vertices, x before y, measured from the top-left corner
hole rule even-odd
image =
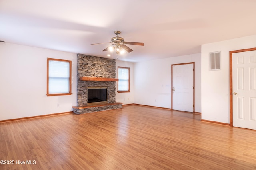
[[[233,126],[256,130],[256,51],[232,54]]]

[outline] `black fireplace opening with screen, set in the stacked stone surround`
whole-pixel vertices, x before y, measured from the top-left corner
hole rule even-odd
[[[88,103],[107,101],[107,87],[88,87]]]

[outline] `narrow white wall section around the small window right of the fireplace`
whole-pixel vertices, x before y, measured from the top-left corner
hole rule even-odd
[[[130,68],[130,92],[129,93],[117,93],[116,83],[116,102],[122,102],[123,105],[134,103],[134,63],[116,60],[116,77],[117,67],[129,67]],[[118,77],[117,77],[118,78]]]

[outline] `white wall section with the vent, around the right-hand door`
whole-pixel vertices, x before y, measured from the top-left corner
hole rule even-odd
[[[229,51],[256,47],[256,35],[202,45],[202,119],[230,123]],[[209,53],[221,51],[221,70],[209,71]]]

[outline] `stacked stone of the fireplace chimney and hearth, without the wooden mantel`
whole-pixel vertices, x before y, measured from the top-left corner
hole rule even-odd
[[[108,103],[116,102],[115,81],[82,81],[80,77],[116,78],[115,59],[77,54],[77,106],[82,107],[87,105],[88,87],[107,87]],[[84,109],[73,108],[73,111],[74,113],[82,114],[119,108],[122,108],[122,104],[88,107]]]

